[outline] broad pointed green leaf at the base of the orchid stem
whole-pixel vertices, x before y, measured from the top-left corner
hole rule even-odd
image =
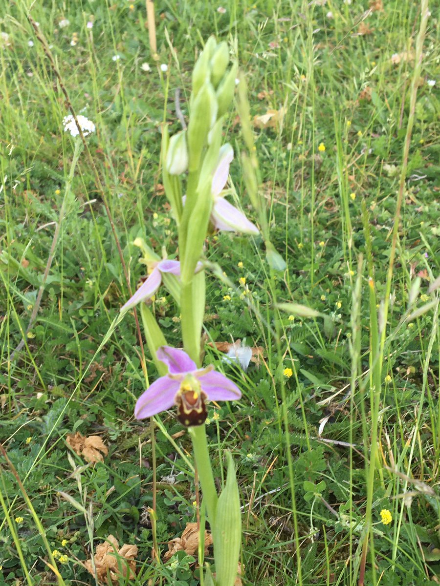
[[[214,531],[215,581],[217,586],[233,586],[238,570],[241,546],[241,512],[235,468],[230,452],[228,478],[218,498]]]

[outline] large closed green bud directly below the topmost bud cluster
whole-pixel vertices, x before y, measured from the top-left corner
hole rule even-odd
[[[217,118],[217,109],[214,88],[211,82],[206,81],[191,105],[188,124],[189,171],[199,168],[209,130]]]

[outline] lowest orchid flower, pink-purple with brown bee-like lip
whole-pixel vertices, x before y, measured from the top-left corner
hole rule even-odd
[[[157,358],[168,367],[168,374],[154,381],[136,402],[134,415],[145,419],[177,406],[182,425],[201,425],[207,418],[206,401],[232,401],[241,391],[211,365],[198,369],[184,350],[161,346]]]

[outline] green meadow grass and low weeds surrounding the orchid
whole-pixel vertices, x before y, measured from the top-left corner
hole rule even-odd
[[[136,577],[115,584],[199,583],[197,555],[151,558],[197,520],[199,495],[174,415],[153,435],[134,420],[143,349],[134,320],[117,318],[123,263],[131,289],[144,274],[134,240],[175,252],[160,124],[179,130],[174,92],[187,113],[210,34],[246,74],[251,121],[263,117],[259,197],[287,264],[271,269],[260,239],[207,242],[207,342],[260,348],[246,371],[208,343],[205,356],[243,390],[208,414],[216,477],[225,449],[237,466],[243,584],[438,583],[438,3],[425,33],[425,2],[320,4],[157,3],[163,72],[142,2],[0,2],[0,586],[94,584],[84,563],[109,534],[138,547]],[[63,132],[61,83],[96,124],[90,157]],[[231,111],[236,155],[237,122]],[[238,156],[231,174],[258,219]],[[282,303],[325,317],[291,319]],[[179,346],[165,289],[152,309]],[[103,438],[103,462],[70,451],[77,431]]]

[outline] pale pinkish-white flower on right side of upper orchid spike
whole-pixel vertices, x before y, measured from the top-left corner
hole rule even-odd
[[[212,207],[211,222],[218,230],[229,232],[241,232],[243,234],[259,234],[258,228],[250,222],[245,214],[236,209],[231,203],[221,196],[222,190],[228,181],[229,165],[233,159],[233,149],[230,144],[225,144],[220,149],[217,168],[212,177]]]

